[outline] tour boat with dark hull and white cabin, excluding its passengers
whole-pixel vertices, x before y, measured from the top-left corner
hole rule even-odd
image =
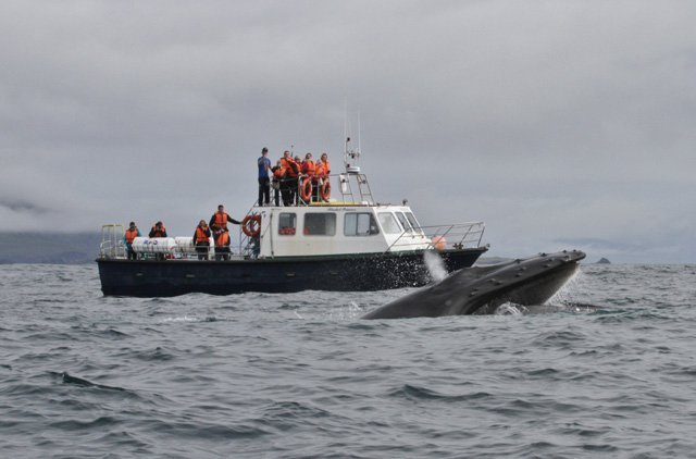
[[[215,259],[212,239],[209,259],[199,260],[191,237],[138,237],[138,258],[132,260],[124,226],[103,225],[97,258],[102,293],[172,297],[418,287],[432,281],[427,252],[453,272],[488,249],[482,245],[483,222],[422,226],[406,200],[376,202],[359,158],[348,137],[344,172],[314,183],[322,191],[336,189],[337,198],[309,193],[291,206],[251,206],[228,259]],[[300,175],[298,187],[308,181]]]

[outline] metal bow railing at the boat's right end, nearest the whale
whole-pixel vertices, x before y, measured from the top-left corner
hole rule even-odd
[[[481,246],[484,231],[483,222],[409,228],[391,243],[387,251],[421,248],[436,250],[476,248]]]

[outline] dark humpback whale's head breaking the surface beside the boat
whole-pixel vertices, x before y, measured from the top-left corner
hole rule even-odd
[[[464,268],[370,311],[362,319],[480,314],[493,312],[505,302],[543,305],[566,284],[584,258],[582,251],[563,250],[489,266]]]

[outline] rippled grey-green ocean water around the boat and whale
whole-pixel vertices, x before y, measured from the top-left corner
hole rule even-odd
[[[107,298],[91,264],[0,285],[2,457],[696,457],[693,265],[393,321],[359,318],[410,289]]]

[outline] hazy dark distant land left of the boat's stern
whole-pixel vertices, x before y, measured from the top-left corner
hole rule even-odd
[[[83,264],[99,255],[99,233],[0,233],[0,264]]]

